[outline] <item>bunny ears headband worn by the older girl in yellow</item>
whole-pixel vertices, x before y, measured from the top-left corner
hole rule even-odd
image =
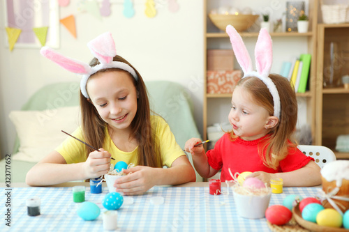
[[[114,56],[117,55],[117,51],[110,32],[103,33],[101,36],[91,40],[87,43],[87,47],[89,47],[91,53],[98,59],[100,64],[90,67],[87,63],[70,59],[62,54],[59,54],[50,47],[41,48],[40,53],[66,70],[82,75],[80,89],[85,98],[89,98],[86,90],[87,80],[91,75],[99,70],[106,68],[120,68],[126,72],[129,72],[136,81],[138,80],[135,70],[131,68],[130,65],[119,61],[113,61]]]

